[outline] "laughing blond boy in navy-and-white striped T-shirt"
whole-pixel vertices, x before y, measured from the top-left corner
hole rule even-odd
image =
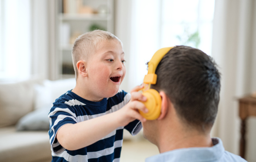
[[[119,90],[124,52],[122,42],[109,32],[79,36],[72,58],[76,87],[57,98],[48,115],[52,161],[118,162],[123,129],[135,135],[145,121],[138,113],[147,112],[140,102],[146,98],[137,92],[142,86],[131,95]]]

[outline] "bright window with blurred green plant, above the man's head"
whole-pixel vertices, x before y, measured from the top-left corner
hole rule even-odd
[[[210,55],[214,3],[214,0],[163,0],[161,46],[192,46]]]

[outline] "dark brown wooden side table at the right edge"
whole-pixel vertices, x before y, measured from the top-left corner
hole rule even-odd
[[[241,138],[240,138],[240,156],[244,158],[245,155],[245,132],[246,119],[248,116],[256,116],[256,98],[247,96],[239,99],[239,116],[241,118]]]

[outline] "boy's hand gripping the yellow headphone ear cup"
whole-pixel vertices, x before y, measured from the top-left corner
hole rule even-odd
[[[141,116],[139,113],[139,110],[141,110],[143,113],[148,112],[148,109],[145,107],[145,105],[140,102],[147,100],[145,96],[138,92],[142,88],[143,85],[134,87],[131,90],[131,100],[128,102],[128,104],[122,107],[122,109],[116,111],[116,113],[119,113],[119,123],[122,124],[122,126],[127,125],[135,119],[138,119],[142,122],[146,121],[146,119],[143,118],[143,116]]]

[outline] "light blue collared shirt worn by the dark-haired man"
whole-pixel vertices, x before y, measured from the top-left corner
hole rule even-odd
[[[151,156],[145,162],[246,162],[241,156],[224,150],[219,138],[212,138],[212,147],[181,148]]]

